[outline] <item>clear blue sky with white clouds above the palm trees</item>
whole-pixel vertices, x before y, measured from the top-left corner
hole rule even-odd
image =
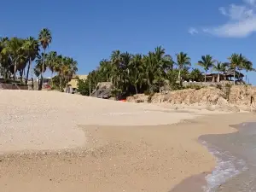
[[[241,53],[256,67],[256,0],[9,0],[1,3],[0,37],[32,36],[47,27],[50,50],[73,57],[87,74],[115,49],[147,54],[163,46],[193,66],[201,55],[227,61]],[[175,59],[175,58],[174,58]],[[256,73],[248,73],[256,84]]]

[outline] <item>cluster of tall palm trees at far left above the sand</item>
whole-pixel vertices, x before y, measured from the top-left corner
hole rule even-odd
[[[0,76],[21,84],[30,81],[33,87],[35,75],[39,82],[38,90],[42,90],[44,72],[49,69],[52,87],[63,90],[78,71],[78,63],[71,57],[58,55],[56,51],[47,52],[51,43],[52,35],[48,28],[42,29],[38,38],[0,38]]]

